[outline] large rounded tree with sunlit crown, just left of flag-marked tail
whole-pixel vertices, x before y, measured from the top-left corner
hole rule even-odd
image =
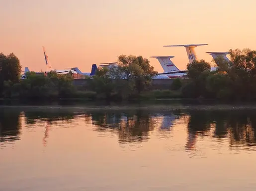
[[[142,56],[120,55],[118,65],[99,69],[91,82],[98,96],[128,98],[138,95],[157,75],[148,59]]]

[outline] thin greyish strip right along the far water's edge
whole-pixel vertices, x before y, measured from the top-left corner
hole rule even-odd
[[[256,104],[112,104],[112,105],[1,105],[0,109],[17,109],[17,110],[46,110],[47,112],[52,112],[55,110],[64,111],[64,110],[73,110],[74,112],[84,112],[90,110],[112,110],[112,111],[128,111],[128,110],[149,110],[149,111],[189,111],[189,110],[198,110],[198,111],[236,111],[236,110],[252,110],[256,111]]]

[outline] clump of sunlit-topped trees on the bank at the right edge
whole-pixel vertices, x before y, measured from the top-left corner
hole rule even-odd
[[[217,59],[215,71],[204,60],[187,64],[188,83],[182,96],[222,100],[256,100],[256,51],[230,50],[230,61]]]

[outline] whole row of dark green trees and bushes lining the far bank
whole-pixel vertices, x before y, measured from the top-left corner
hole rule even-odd
[[[173,80],[168,90],[152,90],[158,72],[147,58],[118,56],[118,66],[100,68],[86,87],[73,84],[72,74],[27,72],[20,79],[21,64],[13,54],[0,53],[0,96],[3,98],[213,98],[256,100],[256,51],[231,49],[230,61],[218,58],[216,70],[205,60],[187,64],[188,79]]]

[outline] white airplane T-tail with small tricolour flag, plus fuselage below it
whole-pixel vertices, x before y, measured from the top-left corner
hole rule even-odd
[[[160,62],[163,73],[159,75],[166,75],[168,78],[184,78],[187,75],[187,70],[179,70],[175,64],[171,61],[174,56],[150,56],[151,58],[157,58]]]

